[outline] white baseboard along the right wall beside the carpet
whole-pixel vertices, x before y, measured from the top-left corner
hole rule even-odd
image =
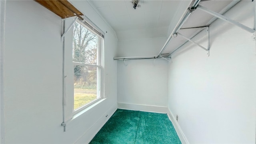
[[[174,115],[172,114],[172,112],[170,111],[170,109],[168,108],[168,113],[167,113],[169,119],[171,120],[179,138],[180,138],[180,141],[182,144],[189,144],[188,143],[188,140],[186,139],[184,133],[182,132],[177,120],[176,120],[176,117],[174,117]]]

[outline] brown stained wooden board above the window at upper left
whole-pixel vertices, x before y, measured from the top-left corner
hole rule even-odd
[[[48,10],[54,12],[61,18],[69,18],[72,16],[78,16],[82,19],[82,12],[77,10],[68,0],[35,0]]]

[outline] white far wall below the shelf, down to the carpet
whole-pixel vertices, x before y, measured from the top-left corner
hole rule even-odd
[[[131,110],[166,112],[168,61],[118,61],[118,107]]]

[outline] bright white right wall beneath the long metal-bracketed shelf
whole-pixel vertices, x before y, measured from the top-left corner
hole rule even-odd
[[[253,5],[241,1],[225,15],[253,28]],[[209,57],[192,44],[172,55],[168,108],[189,143],[255,143],[255,40],[217,20],[210,25],[210,48]]]

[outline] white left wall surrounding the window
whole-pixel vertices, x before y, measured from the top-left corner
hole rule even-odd
[[[86,1],[72,3],[99,28],[108,31],[107,98],[75,118],[63,132],[61,18],[35,1],[7,1],[3,63],[6,143],[88,143],[116,110],[114,32]]]

